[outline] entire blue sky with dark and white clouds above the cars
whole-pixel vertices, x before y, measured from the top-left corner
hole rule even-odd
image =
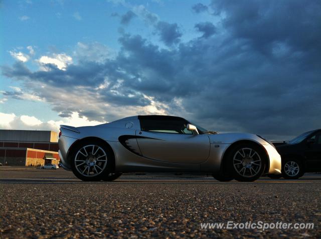
[[[319,0],[2,0],[0,128],[136,114],[321,128]]]

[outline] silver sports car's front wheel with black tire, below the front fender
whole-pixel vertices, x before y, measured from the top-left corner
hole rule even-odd
[[[267,156],[255,143],[234,145],[227,154],[228,169],[237,181],[255,181],[264,172]]]

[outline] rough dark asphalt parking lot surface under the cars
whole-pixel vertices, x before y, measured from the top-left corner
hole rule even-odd
[[[1,238],[321,235],[321,174],[219,182],[206,175],[125,174],[84,182],[72,172],[0,167]],[[202,229],[201,223],[313,222],[313,229]]]

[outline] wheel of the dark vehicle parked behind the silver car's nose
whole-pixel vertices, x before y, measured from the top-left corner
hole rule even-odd
[[[290,168],[291,166],[293,166],[293,168]],[[297,167],[297,170],[296,170],[296,167]],[[282,160],[282,175],[284,178],[297,179],[303,176],[303,174],[304,174],[303,165],[299,159],[286,158],[284,161]]]

